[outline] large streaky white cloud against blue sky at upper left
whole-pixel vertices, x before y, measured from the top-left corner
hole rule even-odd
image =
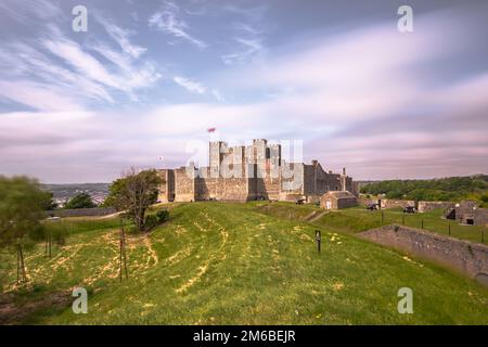
[[[41,111],[114,103],[114,91],[138,101],[136,91],[153,87],[162,74],[150,60],[138,59],[142,51],[124,41],[126,31],[113,24],[110,28],[121,35],[121,51],[112,49],[101,38],[80,46],[63,35],[55,23],[50,23],[46,33],[34,40],[4,42],[0,48],[0,67],[3,86],[9,87],[0,95]],[[106,61],[100,61],[93,52]]]

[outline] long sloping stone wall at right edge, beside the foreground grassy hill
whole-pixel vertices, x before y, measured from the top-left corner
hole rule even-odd
[[[359,236],[445,265],[488,286],[488,246],[483,244],[395,224]]]

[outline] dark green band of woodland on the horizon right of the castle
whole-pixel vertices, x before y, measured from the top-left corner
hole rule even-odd
[[[414,201],[460,201],[488,194],[488,176],[449,177],[433,180],[386,180],[365,184],[363,194]]]

